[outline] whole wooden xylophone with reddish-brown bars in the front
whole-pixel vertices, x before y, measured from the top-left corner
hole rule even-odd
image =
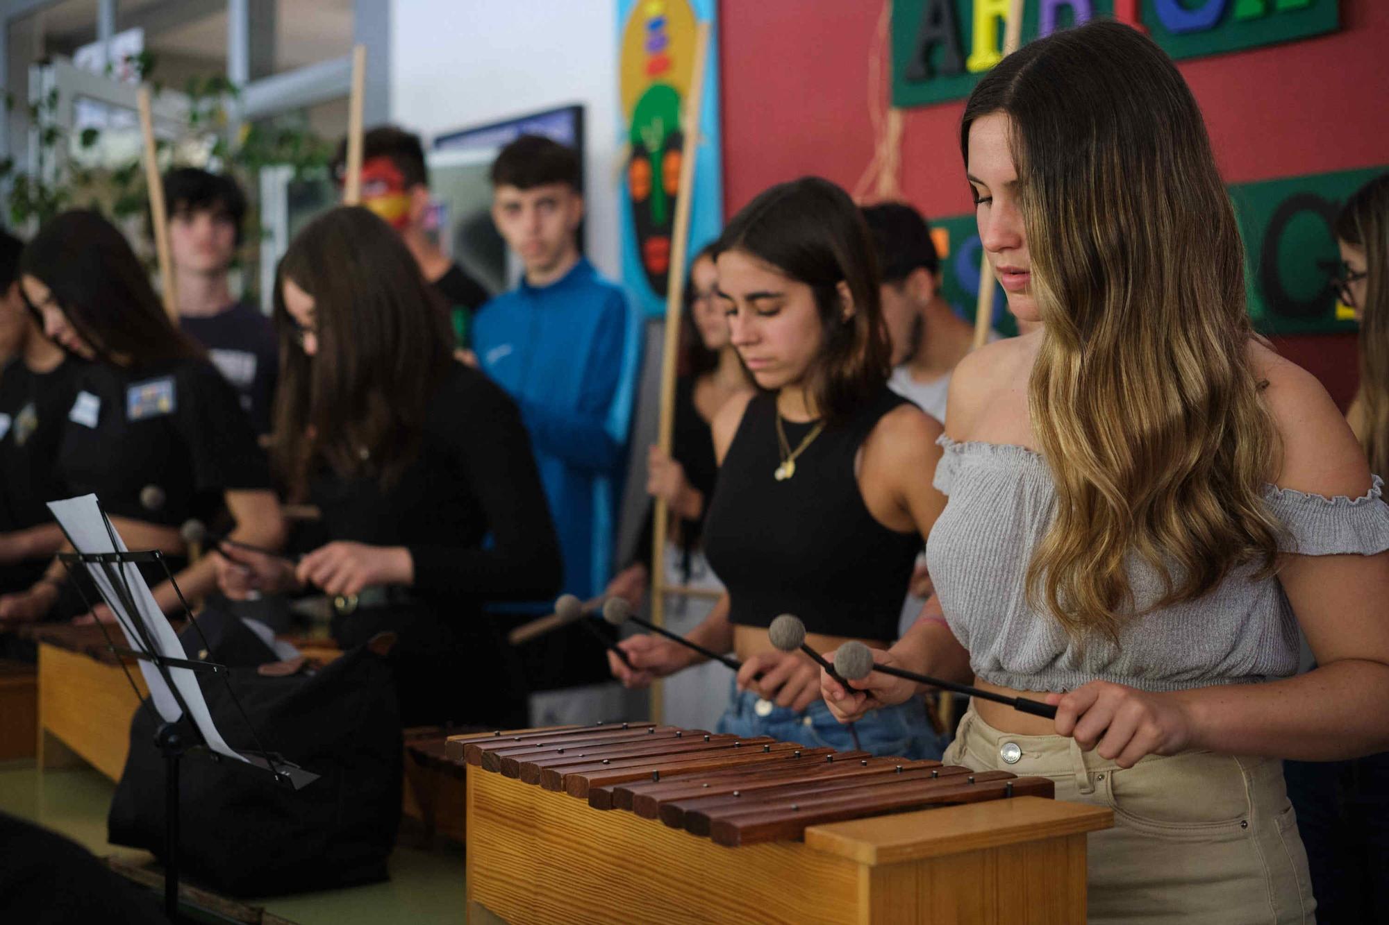
[[[474,922],[1083,922],[1111,824],[1045,778],[654,724],[447,754]]]

